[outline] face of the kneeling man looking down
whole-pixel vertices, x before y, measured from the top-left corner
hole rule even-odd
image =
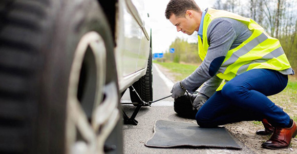
[[[177,17],[175,14],[172,14],[169,18],[169,21],[176,26],[177,31],[181,31],[185,34],[192,35],[194,31],[198,31],[197,23],[193,18],[193,14],[185,14],[185,17]]]

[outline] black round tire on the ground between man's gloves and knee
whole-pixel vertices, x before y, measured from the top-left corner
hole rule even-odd
[[[191,95],[192,102],[197,97],[196,94]],[[177,99],[174,99],[174,111],[183,118],[195,119],[197,110],[193,110],[192,103],[190,102],[188,95],[183,95]]]

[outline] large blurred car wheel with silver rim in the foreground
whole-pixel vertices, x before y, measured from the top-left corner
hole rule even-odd
[[[0,23],[0,153],[122,153],[114,45],[98,2],[5,0]]]

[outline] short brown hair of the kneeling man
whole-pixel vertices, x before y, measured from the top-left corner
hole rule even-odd
[[[194,0],[171,0],[167,4],[165,16],[167,19],[169,19],[172,14],[175,14],[177,17],[184,17],[187,10],[201,12],[201,9]]]

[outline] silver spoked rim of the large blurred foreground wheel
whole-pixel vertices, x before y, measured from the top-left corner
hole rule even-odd
[[[96,75],[96,77],[88,78],[94,79],[88,82],[83,78],[80,79],[80,73],[84,72],[81,68],[85,60],[92,58],[90,55],[94,56],[94,64],[91,66],[96,65],[96,69],[92,70],[93,72],[96,71],[96,74],[91,74],[91,76]],[[83,59],[83,57],[87,58]],[[81,38],[75,53],[68,89],[67,141],[71,153],[104,153],[104,143],[120,118],[117,83],[107,84],[105,82],[106,59],[107,51],[102,37],[96,32],[85,34]],[[87,75],[84,74],[84,76]],[[81,83],[82,85],[93,84],[96,87],[94,94],[88,88],[83,89],[84,91],[80,89]],[[92,86],[90,87],[89,89],[92,89]],[[105,96],[104,100],[103,95]],[[89,97],[91,98],[86,99]],[[92,115],[90,115],[90,111]]]

